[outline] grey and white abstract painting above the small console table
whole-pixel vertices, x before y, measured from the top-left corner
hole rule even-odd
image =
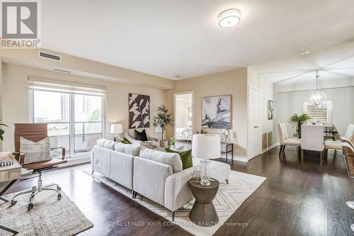
[[[231,95],[202,98],[202,128],[232,128]]]

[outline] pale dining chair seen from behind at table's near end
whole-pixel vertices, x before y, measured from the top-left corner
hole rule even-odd
[[[301,125],[301,161],[304,150],[319,152],[319,163],[324,158],[324,125]]]

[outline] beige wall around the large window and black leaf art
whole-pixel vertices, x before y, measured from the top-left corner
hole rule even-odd
[[[157,106],[164,103],[165,100],[164,90],[153,89],[150,86],[120,84],[13,64],[2,64],[3,88],[0,98],[2,97],[4,123],[10,126],[5,133],[4,150],[13,150],[13,123],[28,122],[28,76],[105,86],[107,91],[105,133],[108,138],[112,138],[109,133],[110,123],[122,123],[123,128],[127,129],[129,122],[128,93],[134,92],[150,96],[151,122]],[[154,128],[150,128],[149,132],[154,132]]]

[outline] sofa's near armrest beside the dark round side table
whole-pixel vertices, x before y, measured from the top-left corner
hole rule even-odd
[[[188,186],[191,172],[193,172],[193,167],[183,169],[181,172],[176,172],[167,177],[165,207],[169,210],[177,210],[193,200],[193,194]]]

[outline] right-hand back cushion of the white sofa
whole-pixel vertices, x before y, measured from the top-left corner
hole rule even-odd
[[[181,157],[178,153],[160,152],[151,150],[147,147],[142,147],[139,157],[152,159],[153,161],[161,162],[164,164],[169,164],[173,169],[173,173],[181,172],[183,169]]]

